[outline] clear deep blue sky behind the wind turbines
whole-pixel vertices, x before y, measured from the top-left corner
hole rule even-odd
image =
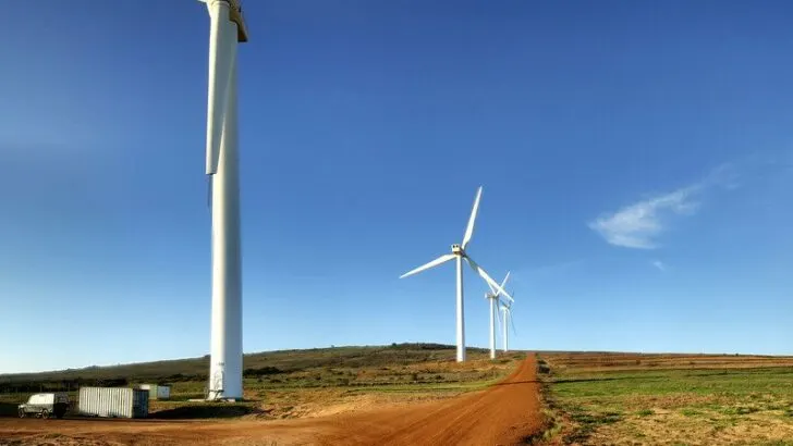
[[[209,349],[206,9],[110,3],[0,15],[0,372]],[[790,4],[244,8],[245,351],[452,344],[484,185],[514,347],[793,354]]]

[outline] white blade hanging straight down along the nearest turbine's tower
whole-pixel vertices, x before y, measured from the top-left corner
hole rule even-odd
[[[209,10],[209,86],[207,99],[206,174],[218,172],[220,140],[229,103],[231,67],[236,60],[236,24],[229,20],[229,3],[207,2]]]

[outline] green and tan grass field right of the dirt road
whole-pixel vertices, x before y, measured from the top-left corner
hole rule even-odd
[[[550,366],[545,398],[563,444],[793,445],[793,363],[685,359],[678,368],[594,370],[541,359]]]

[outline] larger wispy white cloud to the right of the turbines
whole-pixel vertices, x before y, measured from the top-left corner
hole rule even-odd
[[[698,183],[629,205],[617,212],[603,213],[588,226],[611,245],[655,249],[669,219],[695,214],[699,209],[697,198],[705,189],[717,185],[727,188],[739,186],[737,175],[730,164],[711,171]]]

